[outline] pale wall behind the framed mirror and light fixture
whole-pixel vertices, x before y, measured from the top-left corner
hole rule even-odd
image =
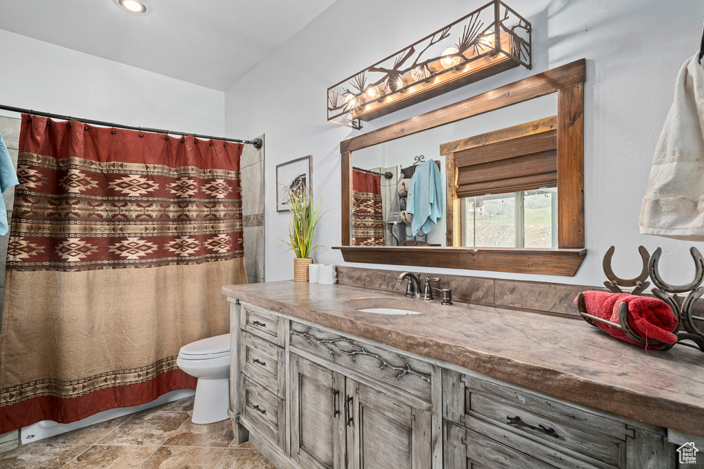
[[[670,108],[674,80],[701,38],[704,4],[698,0],[507,0],[534,27],[533,70],[515,68],[463,89],[364,124],[361,131],[326,122],[325,92],[376,60],[398,51],[450,23],[482,1],[338,0],[226,91],[225,126],[245,135],[266,131],[266,179],[275,181],[275,166],[301,155],[313,155],[313,188],[329,210],[320,224],[328,248],[340,243],[339,142],[474,96],[572,60],[586,58],[585,204],[589,253],[572,278],[485,271],[433,269],[446,274],[600,285],[601,257],[616,245],[617,274],[639,269],[636,251],[662,246],[661,267],[674,283],[688,281],[692,243],[638,233],[641,199],[662,123]],[[536,116],[542,117],[542,116]],[[497,120],[495,128],[505,127]],[[266,199],[274,200],[269,184]],[[291,278],[291,253],[279,241],[289,216],[267,204],[268,281]],[[704,243],[694,243],[704,250]],[[318,262],[344,264],[339,252],[325,250]],[[394,266],[347,264],[379,269]],[[428,271],[429,269],[418,269]]]

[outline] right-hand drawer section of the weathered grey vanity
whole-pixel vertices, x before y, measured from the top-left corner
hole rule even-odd
[[[448,468],[667,468],[662,430],[445,369]]]

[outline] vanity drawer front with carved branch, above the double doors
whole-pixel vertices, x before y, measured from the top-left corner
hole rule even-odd
[[[290,344],[430,401],[432,366],[423,361],[296,322]]]

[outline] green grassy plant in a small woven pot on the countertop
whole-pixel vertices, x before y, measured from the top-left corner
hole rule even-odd
[[[289,240],[282,240],[294,252],[294,281],[308,281],[308,265],[313,264],[310,255],[319,250],[318,243],[313,243],[315,226],[322,214],[320,200],[315,202],[310,188],[301,184],[288,190],[288,208],[291,210]]]

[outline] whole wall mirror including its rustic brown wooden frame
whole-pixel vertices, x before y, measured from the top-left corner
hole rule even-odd
[[[586,256],[585,79],[586,60],[575,60],[341,141],[342,245],[334,249],[346,262],[574,276]],[[429,189],[408,195],[412,231],[395,240],[386,233],[388,194],[420,155],[417,186]],[[420,221],[416,205],[425,207]]]

